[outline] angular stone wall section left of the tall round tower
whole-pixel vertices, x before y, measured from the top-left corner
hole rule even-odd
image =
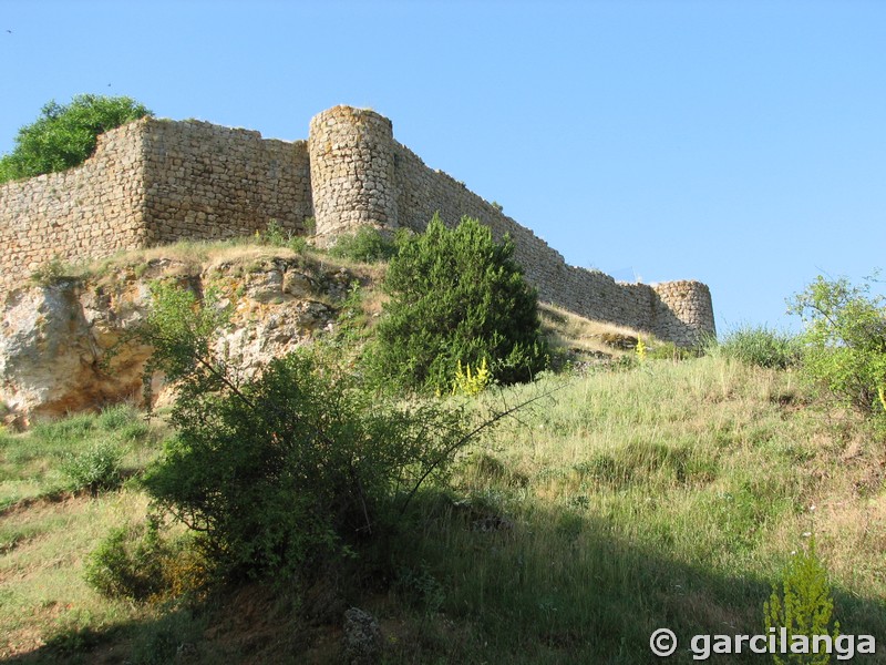
[[[0,186],[0,295],[54,258],[251,235],[270,221],[305,234],[312,214],[306,141],[143,119],[99,136],[81,166]]]

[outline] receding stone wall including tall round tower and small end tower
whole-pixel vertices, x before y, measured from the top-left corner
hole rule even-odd
[[[679,345],[714,332],[710,291],[703,284],[622,284],[568,265],[542,238],[463,183],[429,168],[394,141],[391,122],[372,111],[323,111],[311,121],[309,143],[317,233],[323,243],[361,225],[420,232],[435,213],[450,226],[467,215],[490,226],[498,239],[511,235],[515,258],[543,300]]]

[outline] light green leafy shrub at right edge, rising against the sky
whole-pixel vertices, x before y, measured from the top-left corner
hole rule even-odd
[[[886,387],[886,305],[870,279],[818,277],[796,295],[790,311],[805,324],[803,370],[837,399],[866,413],[883,412]]]

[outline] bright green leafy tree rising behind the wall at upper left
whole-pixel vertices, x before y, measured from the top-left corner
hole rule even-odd
[[[151,111],[127,96],[81,94],[66,105],[51,101],[0,158],[0,183],[78,166],[95,151],[99,134],[145,115]]]

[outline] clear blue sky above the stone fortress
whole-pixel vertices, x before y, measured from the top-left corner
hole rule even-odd
[[[0,0],[0,153],[80,93],[284,140],[371,108],[567,263],[704,282],[721,332],[886,268],[878,0]]]

